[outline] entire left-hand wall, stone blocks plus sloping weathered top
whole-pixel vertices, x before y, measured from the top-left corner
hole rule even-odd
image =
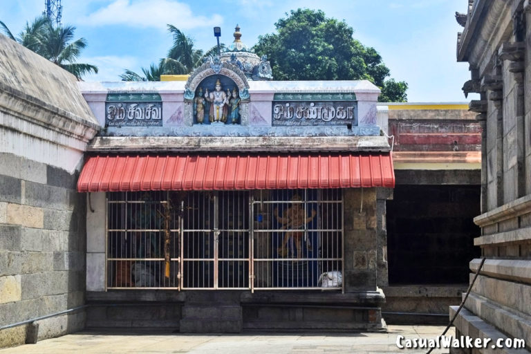
[[[75,77],[0,35],[0,327],[84,304],[86,216],[77,171],[97,129]],[[39,339],[84,310],[37,321]],[[0,330],[22,344],[26,325]]]

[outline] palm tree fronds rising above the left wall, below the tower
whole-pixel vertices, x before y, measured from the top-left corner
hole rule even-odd
[[[26,22],[18,37],[12,35],[9,28],[0,21],[0,28],[10,39],[45,57],[66,71],[73,73],[78,80],[87,73],[97,73],[97,67],[91,64],[77,63],[77,58],[86,48],[86,39],[74,39],[74,26],[54,27],[48,17],[37,17],[31,24]]]

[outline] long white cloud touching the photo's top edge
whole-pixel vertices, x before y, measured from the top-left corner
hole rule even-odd
[[[203,26],[218,26],[223,23],[221,15],[196,16],[185,3],[171,0],[115,0],[81,18],[86,26],[121,25],[140,28],[160,28],[174,24],[180,30]]]

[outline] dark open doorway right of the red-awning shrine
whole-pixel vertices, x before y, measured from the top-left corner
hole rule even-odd
[[[389,285],[468,283],[478,185],[397,185],[387,202]]]

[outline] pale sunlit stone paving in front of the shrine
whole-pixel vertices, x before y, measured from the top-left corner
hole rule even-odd
[[[388,326],[388,333],[245,333],[241,335],[187,335],[174,333],[80,332],[37,344],[0,350],[4,353],[426,353],[427,349],[400,349],[406,339],[434,338],[444,326]],[[454,329],[447,335],[454,335]],[[436,349],[432,353],[448,353]]]

